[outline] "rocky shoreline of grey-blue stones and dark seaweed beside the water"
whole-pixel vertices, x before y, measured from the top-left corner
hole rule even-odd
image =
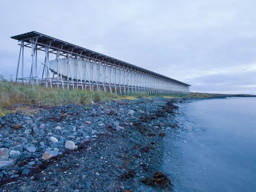
[[[34,108],[0,118],[2,191],[171,188],[163,140],[177,129],[175,98]]]

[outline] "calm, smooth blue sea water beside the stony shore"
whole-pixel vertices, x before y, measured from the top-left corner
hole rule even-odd
[[[256,192],[256,98],[180,105],[164,170],[178,192]]]

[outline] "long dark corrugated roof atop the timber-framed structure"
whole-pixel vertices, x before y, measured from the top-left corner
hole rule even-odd
[[[90,56],[95,56],[95,57],[97,56],[97,59],[106,58],[108,60],[111,60],[110,63],[112,63],[112,64],[115,62],[115,64],[118,64],[121,67],[126,67],[126,68],[129,68],[129,69],[138,70],[138,71],[141,71],[141,72],[144,72],[144,73],[148,73],[148,74],[153,75],[153,76],[158,76],[158,77],[164,78],[166,80],[171,80],[171,81],[176,82],[176,83],[180,83],[180,84],[183,84],[183,85],[186,85],[186,86],[190,86],[189,84],[180,82],[180,81],[172,79],[170,77],[167,77],[167,76],[164,76],[164,75],[152,72],[150,70],[146,70],[144,68],[135,66],[133,64],[130,64],[130,63],[127,63],[127,62],[124,62],[124,61],[112,58],[110,56],[106,56],[104,54],[100,54],[98,52],[95,52],[95,51],[92,51],[92,50],[89,50],[89,49],[86,49],[86,48],[83,48],[83,47],[80,47],[80,46],[77,46],[77,45],[74,45],[74,44],[62,41],[62,40],[59,40],[59,39],[56,39],[56,38],[53,38],[53,37],[50,37],[48,35],[45,35],[45,34],[42,34],[42,33],[36,32],[36,31],[32,31],[32,32],[28,32],[28,33],[12,36],[11,38],[12,39],[16,39],[16,40],[24,40],[24,42],[30,42],[30,38],[33,38],[33,37],[36,37],[36,36],[38,37],[38,41],[37,41],[38,43],[45,44],[46,42],[52,41],[51,42],[51,48],[52,47],[58,48],[58,46],[62,46],[63,45],[63,48],[62,48],[63,50],[73,49],[73,52],[81,52],[81,51],[83,51],[82,55],[90,54]]]

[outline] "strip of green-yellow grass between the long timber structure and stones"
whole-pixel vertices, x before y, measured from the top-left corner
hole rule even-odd
[[[164,95],[158,95],[164,96]],[[62,90],[57,88],[44,88],[14,82],[12,77],[0,75],[0,116],[13,112],[14,104],[35,104],[38,106],[56,106],[63,104],[91,104],[107,100],[129,99],[137,100],[139,97],[151,99],[146,93],[118,95],[110,92],[90,92],[83,90]],[[164,96],[172,98],[174,96]]]

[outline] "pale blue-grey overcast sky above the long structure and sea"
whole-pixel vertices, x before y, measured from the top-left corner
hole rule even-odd
[[[15,74],[18,41],[38,31],[191,84],[256,94],[256,1],[2,1],[0,73]]]

